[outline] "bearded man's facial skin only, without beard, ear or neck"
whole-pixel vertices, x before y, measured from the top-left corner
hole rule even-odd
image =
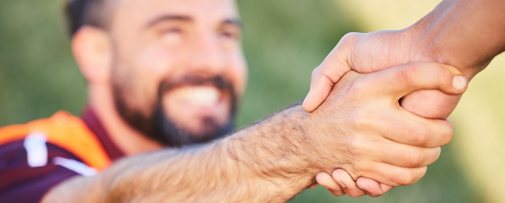
[[[155,98],[157,92],[153,90],[161,81],[191,74],[222,75],[231,82],[236,95],[243,94],[246,66],[240,44],[240,26],[232,23],[239,18],[234,4],[213,4],[210,1],[185,4],[124,1],[119,4],[110,33],[117,50],[117,66],[128,67],[125,71],[129,73],[126,74],[137,81],[138,86],[130,91],[131,98]],[[171,6],[165,6],[167,4]],[[129,41],[131,39],[135,41]],[[165,93],[162,103],[168,117],[180,128],[195,133],[204,131],[197,119],[204,114],[219,123],[230,119],[231,95],[224,95],[220,105],[204,111],[181,104],[170,99],[171,96],[171,92]],[[152,102],[132,101],[134,104],[130,104],[135,109],[145,109]]]

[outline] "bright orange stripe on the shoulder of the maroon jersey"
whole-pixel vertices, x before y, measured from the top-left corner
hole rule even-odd
[[[66,111],[59,111],[50,118],[0,128],[0,145],[22,140],[34,131],[44,132],[47,142],[64,148],[90,167],[101,171],[111,164],[102,143],[84,121]]]

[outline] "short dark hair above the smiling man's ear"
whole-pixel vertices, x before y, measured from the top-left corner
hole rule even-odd
[[[65,16],[70,35],[84,25],[106,29],[109,23],[106,4],[109,1],[113,0],[67,0]]]

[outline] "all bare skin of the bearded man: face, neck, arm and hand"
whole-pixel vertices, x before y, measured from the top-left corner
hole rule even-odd
[[[164,17],[161,27],[149,26],[174,14],[176,20]],[[124,0],[115,3],[107,30],[79,29],[72,50],[88,81],[89,104],[113,141],[132,156],[96,176],[63,182],[43,202],[284,202],[315,183],[318,172],[336,168],[346,169],[351,178],[408,185],[425,174],[439,146],[450,141],[449,122],[422,118],[398,103],[419,89],[466,90],[466,83],[459,88],[452,83],[461,72],[438,63],[349,72],[312,113],[295,105],[226,138],[191,147],[162,149],[114,111],[112,81],[119,76],[135,76],[129,78],[136,85],[128,102],[144,114],[158,84],[184,74],[225,75],[242,95],[245,61],[239,38],[229,35],[240,31],[230,23],[237,17],[231,0]],[[204,115],[172,103],[169,95],[163,105],[179,106],[166,114],[179,118],[179,108],[189,111],[179,125],[198,131],[201,124],[195,120]],[[226,108],[210,111],[226,119]]]

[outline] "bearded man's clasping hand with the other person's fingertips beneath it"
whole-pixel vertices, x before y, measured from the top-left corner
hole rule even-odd
[[[318,183],[338,196],[364,195],[363,185],[371,188],[369,195],[378,196],[422,178],[426,166],[438,159],[440,146],[450,142],[453,127],[448,120],[413,114],[399,100],[417,90],[462,94],[467,85],[460,84],[461,75],[452,66],[434,62],[345,73],[308,115],[314,126],[307,131],[311,150],[318,152],[314,165],[323,171],[316,176]]]

